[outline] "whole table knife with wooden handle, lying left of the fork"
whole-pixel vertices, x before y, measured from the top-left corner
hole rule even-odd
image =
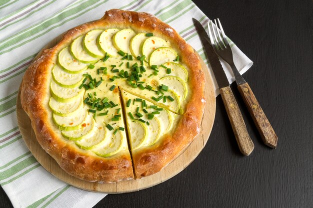
[[[246,126],[242,118],[242,114],[229,87],[229,82],[226,74],[221,67],[219,59],[215,54],[211,44],[209,43],[209,37],[205,29],[196,19],[192,18],[192,21],[200,37],[201,43],[206,53],[206,57],[209,60],[212,71],[214,73],[220,95],[223,100],[239,150],[243,155],[248,156],[253,151],[254,144],[247,132]]]

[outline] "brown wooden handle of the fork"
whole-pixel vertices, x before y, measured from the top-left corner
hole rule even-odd
[[[258,104],[248,83],[238,85],[238,90],[265,145],[276,148],[278,137]]]

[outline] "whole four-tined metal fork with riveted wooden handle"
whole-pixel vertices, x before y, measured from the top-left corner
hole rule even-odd
[[[234,65],[229,42],[218,18],[217,22],[219,28],[217,27],[216,19],[214,19],[215,27],[211,20],[207,22],[211,45],[213,46],[215,53],[231,67],[240,95],[254,121],[255,126],[257,127],[264,144],[271,148],[276,148],[278,137],[276,136],[267,117],[265,116],[261,106],[257,102],[250,86],[243,79],[238,69]]]

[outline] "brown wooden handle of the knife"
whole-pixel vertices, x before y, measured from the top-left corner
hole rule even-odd
[[[254,144],[246,130],[240,109],[230,87],[219,89],[233,133],[236,137],[240,152],[248,156],[254,149]]]

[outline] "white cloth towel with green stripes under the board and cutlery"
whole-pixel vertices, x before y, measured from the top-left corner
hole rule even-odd
[[[15,103],[23,74],[44,45],[73,26],[99,19],[111,8],[154,14],[171,25],[205,60],[191,17],[206,29],[208,18],[191,0],[1,0],[0,185],[14,208],[88,208],[106,196],[71,187],[40,166],[21,139]],[[244,73],[252,62],[235,45],[232,49],[235,64]],[[232,82],[232,73],[222,65]]]

